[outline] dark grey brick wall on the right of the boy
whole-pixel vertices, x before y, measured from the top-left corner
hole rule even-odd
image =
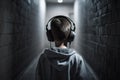
[[[100,80],[118,80],[120,73],[120,1],[79,3],[79,49]],[[81,8],[80,8],[81,7]]]

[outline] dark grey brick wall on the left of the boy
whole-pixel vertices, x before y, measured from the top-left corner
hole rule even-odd
[[[0,80],[16,79],[41,52],[35,1],[0,0]]]

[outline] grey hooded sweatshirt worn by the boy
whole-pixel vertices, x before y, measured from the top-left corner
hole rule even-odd
[[[36,80],[95,80],[83,58],[73,49],[45,49],[36,69]]]

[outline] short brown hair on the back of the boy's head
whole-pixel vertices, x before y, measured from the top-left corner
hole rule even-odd
[[[71,23],[64,17],[56,17],[51,21],[51,31],[54,40],[66,42],[70,34]]]

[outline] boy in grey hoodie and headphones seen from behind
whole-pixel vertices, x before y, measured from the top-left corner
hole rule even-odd
[[[89,74],[83,58],[67,47],[67,43],[72,42],[75,36],[71,20],[65,16],[56,16],[50,21],[51,30],[46,28],[47,37],[49,41],[55,42],[55,47],[45,49],[41,54],[36,80],[95,80]]]

